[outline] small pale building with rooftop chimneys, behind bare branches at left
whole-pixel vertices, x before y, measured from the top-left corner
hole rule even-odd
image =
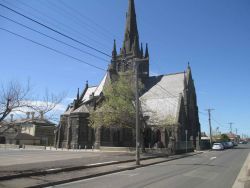
[[[43,113],[39,117],[35,117],[35,112],[26,114],[26,118],[15,121],[12,118],[10,122],[4,122],[0,126],[0,143],[53,146],[55,124],[45,119]]]

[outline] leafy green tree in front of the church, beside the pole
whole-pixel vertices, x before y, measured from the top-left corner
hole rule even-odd
[[[135,89],[133,74],[123,73],[104,88],[104,101],[90,113],[91,126],[135,127]],[[142,88],[142,84],[139,84]]]

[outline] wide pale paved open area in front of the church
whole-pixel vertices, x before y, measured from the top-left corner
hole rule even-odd
[[[0,180],[61,171],[72,171],[94,167],[96,165],[132,162],[135,159],[134,153],[98,151],[7,151],[1,153],[1,155]],[[63,156],[66,157],[63,158]],[[142,159],[156,157],[166,157],[166,155],[150,153],[141,155]],[[42,160],[42,158],[44,158],[44,160]]]

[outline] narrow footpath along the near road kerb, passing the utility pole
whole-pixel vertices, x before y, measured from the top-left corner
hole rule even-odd
[[[9,180],[1,181],[1,185],[8,188],[19,188],[19,187],[47,187],[54,186],[63,183],[68,183],[77,180],[83,180],[93,177],[98,177],[102,175],[107,175],[111,173],[132,170],[135,168],[141,168],[149,165],[154,165],[162,162],[167,162],[171,160],[176,160],[184,157],[189,157],[193,155],[200,154],[202,152],[187,153],[182,155],[174,155],[169,157],[154,157],[149,159],[144,157],[144,160],[141,161],[141,165],[135,165],[135,161],[119,161],[119,162],[110,162],[108,164],[93,164],[85,165],[82,168],[75,169],[73,171],[65,171],[65,169],[60,169],[59,171],[46,171],[45,174],[30,174],[23,176],[23,178],[15,178]],[[134,156],[133,156],[134,157]]]

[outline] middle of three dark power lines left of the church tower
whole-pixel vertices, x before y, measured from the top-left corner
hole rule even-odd
[[[40,31],[38,31],[38,30],[32,29],[31,27],[26,26],[26,25],[24,25],[24,24],[22,24],[22,23],[20,23],[20,22],[17,22],[17,21],[15,21],[15,20],[11,19],[11,18],[8,18],[8,17],[3,16],[3,15],[1,15],[1,14],[0,14],[0,17],[6,19],[6,20],[8,20],[8,21],[11,21],[11,22],[13,22],[13,23],[15,23],[15,24],[18,24],[18,25],[20,25],[20,26],[22,26],[22,27],[24,27],[24,28],[27,28],[27,29],[29,29],[29,30],[31,30],[31,31],[34,31],[34,32],[36,32],[36,33],[39,33],[40,35],[43,35],[43,36],[45,36],[45,37],[47,37],[47,38],[50,38],[50,39],[52,39],[52,40],[55,40],[55,41],[57,41],[57,42],[59,42],[59,43],[61,43],[61,44],[64,44],[64,45],[69,46],[69,47],[71,47],[71,48],[74,48],[75,50],[78,50],[78,51],[80,51],[80,52],[82,52],[82,53],[84,53],[84,54],[88,54],[88,55],[90,55],[90,56],[92,56],[92,57],[95,57],[95,58],[97,58],[97,59],[100,59],[100,60],[102,60],[102,61],[109,62],[109,61],[107,61],[106,59],[103,59],[103,58],[101,58],[101,57],[99,57],[99,56],[96,56],[96,55],[94,55],[94,54],[91,54],[91,53],[89,53],[89,52],[86,52],[86,51],[84,51],[84,50],[82,50],[82,49],[80,49],[80,48],[77,48],[77,47],[75,47],[75,46],[72,46],[72,45],[70,45],[70,44],[68,44],[68,43],[66,43],[66,42],[63,42],[63,41],[58,40],[58,39],[56,39],[56,38],[54,38],[54,37],[51,37],[51,36],[49,36],[49,35],[47,35],[47,34],[45,34],[45,33],[42,33],[42,32],[40,32]]]

